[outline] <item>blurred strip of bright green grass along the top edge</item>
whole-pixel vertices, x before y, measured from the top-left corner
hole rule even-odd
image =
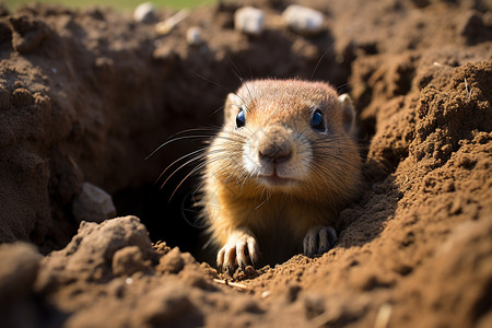
[[[84,8],[90,5],[99,5],[99,7],[112,7],[120,10],[133,10],[137,5],[143,2],[152,2],[155,7],[167,7],[174,9],[180,8],[191,8],[197,5],[210,5],[216,3],[218,0],[4,0],[3,3],[10,10],[15,10],[21,4],[31,3],[31,2],[43,2],[43,3],[58,3],[69,8]]]

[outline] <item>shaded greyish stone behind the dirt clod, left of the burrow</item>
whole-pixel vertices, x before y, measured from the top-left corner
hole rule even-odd
[[[116,215],[116,209],[112,197],[89,183],[82,184],[82,191],[75,197],[72,203],[72,213],[78,222],[97,222]]]

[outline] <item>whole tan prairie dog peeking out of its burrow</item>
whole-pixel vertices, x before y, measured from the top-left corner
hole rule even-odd
[[[202,187],[220,269],[333,247],[361,185],[354,124],[350,97],[321,82],[256,80],[227,95]]]

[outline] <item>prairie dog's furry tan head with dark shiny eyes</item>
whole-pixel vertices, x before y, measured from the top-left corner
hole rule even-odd
[[[227,145],[230,180],[257,190],[320,192],[359,172],[355,113],[326,83],[245,82],[224,107],[219,144]]]

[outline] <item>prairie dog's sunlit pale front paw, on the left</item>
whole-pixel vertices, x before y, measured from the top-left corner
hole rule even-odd
[[[227,243],[219,250],[216,265],[220,270],[231,274],[239,266],[243,270],[253,266],[259,258],[258,243],[253,234],[236,231],[229,236]]]

